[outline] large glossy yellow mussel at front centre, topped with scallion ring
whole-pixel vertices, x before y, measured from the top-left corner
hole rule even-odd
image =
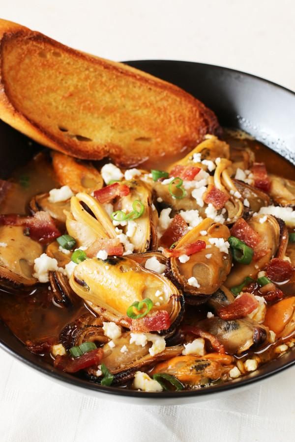
[[[87,259],[75,267],[70,285],[95,313],[126,328],[130,328],[128,307],[145,298],[153,303],[151,312],[169,313],[171,328],[167,333],[182,319],[181,292],[165,276],[144,269],[128,257]]]

